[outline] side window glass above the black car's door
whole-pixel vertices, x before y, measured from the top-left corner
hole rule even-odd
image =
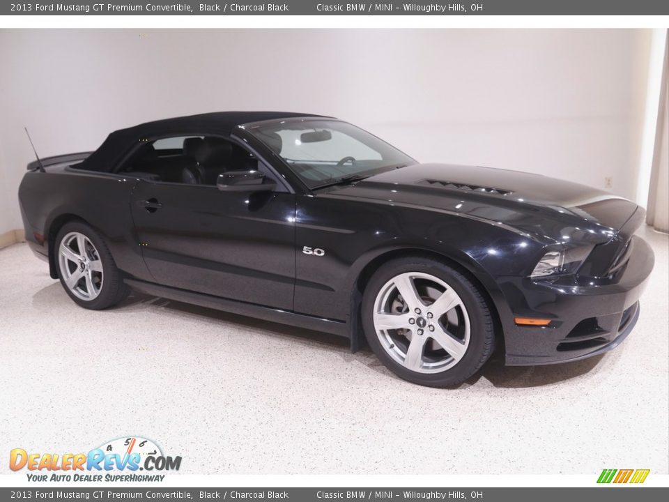
[[[219,174],[260,170],[275,174],[243,147],[217,136],[171,136],[142,144],[121,172],[151,181],[215,186]],[[279,185],[281,186],[281,185]]]

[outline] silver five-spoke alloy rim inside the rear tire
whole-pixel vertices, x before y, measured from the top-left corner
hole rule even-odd
[[[63,281],[72,294],[84,301],[98,298],[102,290],[102,261],[91,239],[70,232],[59,245],[58,258]]]

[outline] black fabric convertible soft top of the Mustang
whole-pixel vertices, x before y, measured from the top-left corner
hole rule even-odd
[[[218,132],[230,134],[237,126],[245,123],[289,119],[299,116],[315,117],[321,115],[295,112],[213,112],[208,114],[175,117],[146,122],[127,129],[112,132],[105,142],[89,158],[77,166],[89,171],[110,172],[114,166],[135,146],[148,137],[169,135],[172,133]]]

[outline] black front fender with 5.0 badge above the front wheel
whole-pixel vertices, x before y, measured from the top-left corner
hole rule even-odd
[[[327,319],[351,319],[352,296],[387,259],[431,253],[473,275],[502,312],[508,310],[495,278],[522,275],[544,243],[508,227],[466,215],[408,208],[391,201],[335,197],[298,199],[295,310]],[[302,246],[325,251],[303,255]]]

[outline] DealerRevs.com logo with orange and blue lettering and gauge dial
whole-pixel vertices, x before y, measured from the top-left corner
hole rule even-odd
[[[162,481],[165,471],[178,471],[181,457],[163,455],[151,439],[114,439],[88,453],[39,453],[14,448],[12,471],[27,469],[29,481]],[[49,471],[49,473],[45,473]]]

